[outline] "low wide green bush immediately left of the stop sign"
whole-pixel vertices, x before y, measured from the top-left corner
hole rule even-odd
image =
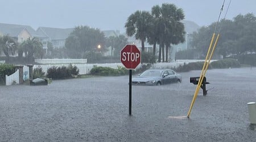
[[[90,74],[96,76],[122,76],[128,73],[128,70],[122,66],[117,66],[118,69],[113,69],[109,67],[94,66],[90,70]]]

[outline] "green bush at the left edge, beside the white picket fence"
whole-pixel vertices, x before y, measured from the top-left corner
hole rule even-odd
[[[5,85],[5,75],[10,76],[15,73],[13,64],[0,64],[0,84]]]

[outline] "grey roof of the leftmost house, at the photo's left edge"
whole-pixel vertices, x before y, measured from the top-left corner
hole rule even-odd
[[[30,26],[0,23],[0,31],[3,34],[9,35],[9,36],[13,36],[13,37],[18,36],[19,33],[22,32],[24,29],[26,29],[31,36],[42,37],[42,35],[38,35],[36,31]]]

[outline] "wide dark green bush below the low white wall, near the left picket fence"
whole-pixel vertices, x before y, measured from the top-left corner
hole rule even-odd
[[[47,77],[52,78],[52,80],[72,78],[78,74],[79,69],[77,69],[77,66],[72,66],[71,64],[68,66],[68,68],[66,66],[52,66],[51,68],[47,69]]]

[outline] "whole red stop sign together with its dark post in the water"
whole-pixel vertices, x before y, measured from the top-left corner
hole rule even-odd
[[[135,69],[141,63],[141,51],[133,44],[127,44],[121,50],[120,61],[129,69],[129,115],[131,115],[131,78],[132,69]]]

